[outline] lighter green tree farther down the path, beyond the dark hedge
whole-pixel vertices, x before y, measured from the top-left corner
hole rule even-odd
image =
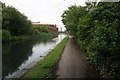
[[[76,5],[68,7],[68,10],[64,11],[61,16],[62,22],[71,34],[75,35],[77,32],[79,18],[83,17],[86,13],[87,11],[84,7],[77,7]]]

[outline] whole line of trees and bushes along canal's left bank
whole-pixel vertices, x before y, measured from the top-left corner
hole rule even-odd
[[[28,20],[27,16],[19,12],[12,6],[6,6],[5,3],[0,2],[2,22],[2,41],[9,41],[11,39],[17,39],[23,35],[39,34],[41,32],[48,33],[48,27],[46,25],[39,27],[32,25],[32,22]]]

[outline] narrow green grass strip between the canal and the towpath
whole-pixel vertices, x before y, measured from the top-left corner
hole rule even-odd
[[[68,36],[64,38],[63,41],[59,43],[52,51],[50,51],[47,56],[44,57],[44,59],[38,62],[33,68],[28,70],[21,80],[26,78],[50,78],[50,73],[53,67],[59,61],[60,54],[67,43],[67,39]]]

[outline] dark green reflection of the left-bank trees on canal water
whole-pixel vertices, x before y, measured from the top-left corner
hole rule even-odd
[[[29,40],[3,43],[2,46],[2,70],[3,77],[13,73],[18,67],[32,55],[32,48],[39,43],[48,42],[52,36],[32,37]]]

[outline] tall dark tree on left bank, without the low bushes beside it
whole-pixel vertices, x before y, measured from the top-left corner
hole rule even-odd
[[[32,29],[31,21],[12,6],[2,4],[2,28],[10,31],[11,35],[29,34]]]

